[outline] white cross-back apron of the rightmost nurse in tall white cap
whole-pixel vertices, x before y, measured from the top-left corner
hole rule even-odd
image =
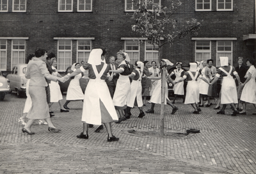
[[[224,70],[223,68],[219,68],[222,72],[227,74],[226,77],[223,77],[223,81],[221,84],[221,104],[237,104],[237,90],[236,90],[236,82],[233,77],[230,75],[232,72],[232,66],[230,66],[229,72]]]

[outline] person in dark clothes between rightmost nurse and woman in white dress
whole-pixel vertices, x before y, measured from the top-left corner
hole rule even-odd
[[[244,65],[242,57],[238,58],[237,63],[238,63],[238,66],[236,67],[236,72],[240,77],[241,83],[244,83],[244,81],[246,81],[246,78],[244,78],[244,76],[246,75],[248,67]],[[237,80],[236,80],[236,85],[237,85],[237,98],[238,98],[237,110],[241,111],[241,109],[239,109],[239,103],[240,103],[240,97],[241,97],[241,93],[243,91],[244,86],[238,85]]]

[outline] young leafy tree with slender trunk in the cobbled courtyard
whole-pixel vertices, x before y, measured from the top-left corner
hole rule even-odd
[[[135,3],[136,0],[133,2]],[[154,3],[158,2],[158,3]],[[200,29],[200,22],[196,19],[186,21],[186,24],[179,24],[173,15],[177,8],[182,5],[180,0],[167,0],[168,6],[159,6],[159,0],[137,0],[138,10],[133,13],[131,19],[135,24],[132,31],[138,33],[147,42],[157,45],[159,63],[161,63],[161,48],[166,43],[170,47],[175,38],[182,38],[186,35],[197,35]],[[163,41],[161,41],[163,40]],[[143,40],[138,40],[143,41]],[[160,115],[160,136],[164,136],[164,96],[166,83],[166,67],[161,66],[161,115]]]

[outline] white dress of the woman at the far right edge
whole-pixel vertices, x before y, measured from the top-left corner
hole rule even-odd
[[[254,65],[252,65],[246,72],[247,77],[249,72],[250,74],[252,74],[252,76],[250,81],[248,81],[244,85],[240,100],[251,103],[251,104],[256,104],[256,91],[255,91],[256,90],[256,82],[255,82],[256,68],[254,67]]]

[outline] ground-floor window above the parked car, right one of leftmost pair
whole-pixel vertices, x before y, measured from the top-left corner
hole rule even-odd
[[[12,40],[12,67],[25,63],[25,40]]]

